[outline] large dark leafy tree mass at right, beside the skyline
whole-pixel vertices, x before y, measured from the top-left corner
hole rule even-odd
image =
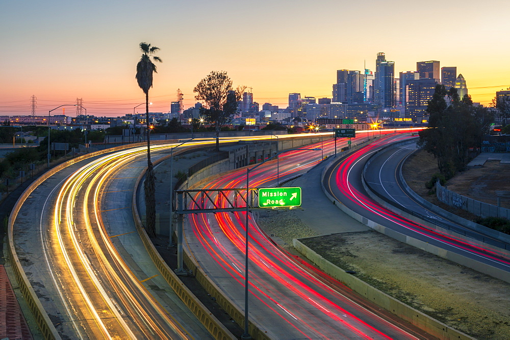
[[[473,106],[471,97],[460,99],[455,89],[438,85],[428,102],[428,128],[420,131],[419,145],[438,161],[439,171],[447,179],[468,163],[469,148],[481,145],[493,117],[484,107]]]

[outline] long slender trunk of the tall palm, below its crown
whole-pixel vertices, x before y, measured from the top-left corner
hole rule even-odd
[[[147,173],[145,174],[145,224],[149,237],[156,236],[156,177],[150,161],[149,92],[145,93],[145,121],[147,126]]]

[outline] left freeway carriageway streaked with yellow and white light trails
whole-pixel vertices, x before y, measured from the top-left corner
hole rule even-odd
[[[154,159],[171,146],[152,148]],[[18,257],[62,337],[211,338],[136,233],[131,200],[145,155],[127,149],[64,168],[18,214]]]

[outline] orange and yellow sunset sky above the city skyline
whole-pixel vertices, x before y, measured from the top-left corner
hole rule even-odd
[[[46,0],[0,2],[0,115],[36,115],[83,98],[87,114],[121,116],[144,102],[135,79],[139,43],[158,46],[153,112],[176,91],[185,107],[212,70],[252,88],[262,106],[288,94],[331,97],[336,70],[395,73],[416,62],[456,66],[473,101],[510,87],[508,0]],[[73,115],[73,107],[66,109]],[[136,109],[143,112],[143,105]],[[53,111],[52,114],[62,112]]]

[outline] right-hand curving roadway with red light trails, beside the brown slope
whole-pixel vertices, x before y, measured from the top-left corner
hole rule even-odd
[[[384,226],[389,230],[399,234],[413,237],[424,243],[437,246],[444,251],[448,251],[460,256],[466,257],[472,261],[481,263],[484,266],[498,268],[504,272],[510,270],[510,261],[499,249],[491,246],[478,245],[476,242],[466,241],[464,237],[449,235],[438,230],[431,230],[424,224],[414,222],[403,218],[397,213],[386,209],[373,201],[363,188],[362,171],[367,159],[378,149],[392,143],[391,138],[383,138],[377,143],[367,146],[341,162],[331,166],[324,176],[324,187],[335,200],[343,204],[349,210],[354,211],[375,224]],[[393,151],[396,152],[396,149]],[[378,172],[387,158],[380,158],[372,168],[372,172]],[[395,174],[395,168],[391,167],[388,171],[381,171],[382,174]],[[392,177],[393,177],[392,176]],[[373,179],[373,176],[370,177]],[[393,180],[387,178],[386,187],[391,186]],[[405,199],[404,199],[405,201]],[[407,202],[409,205],[410,202]]]

